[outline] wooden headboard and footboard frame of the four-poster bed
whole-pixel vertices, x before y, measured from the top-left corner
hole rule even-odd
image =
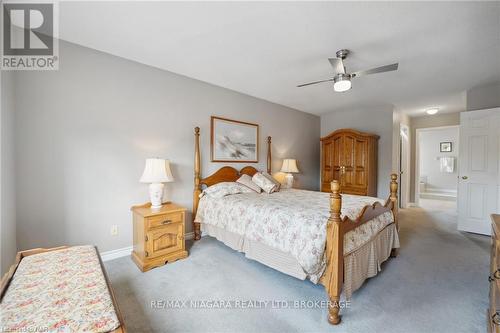
[[[194,222],[196,211],[198,209],[199,195],[202,191],[202,186],[211,186],[221,182],[234,182],[242,174],[253,176],[257,169],[252,166],[245,166],[240,171],[230,166],[224,166],[215,173],[206,178],[201,178],[200,166],[200,128],[194,129],[195,137],[195,153],[194,153],[194,193],[193,193],[193,230],[195,240],[201,237],[200,224]],[[267,137],[267,172],[271,174],[271,137]],[[340,294],[344,282],[344,235],[370,221],[371,219],[392,211],[394,214],[394,224],[398,229],[397,222],[397,192],[398,183],[397,175],[391,174],[390,196],[385,205],[378,201],[373,205],[365,206],[359,217],[355,220],[345,216],[341,218],[342,196],[340,194],[340,184],[334,180],[331,182],[330,194],[330,218],[327,222],[326,236],[326,269],[320,279],[320,283],[325,286],[330,302],[328,305],[328,322],[333,325],[340,323]],[[397,251],[393,249],[391,257],[396,257]]]

